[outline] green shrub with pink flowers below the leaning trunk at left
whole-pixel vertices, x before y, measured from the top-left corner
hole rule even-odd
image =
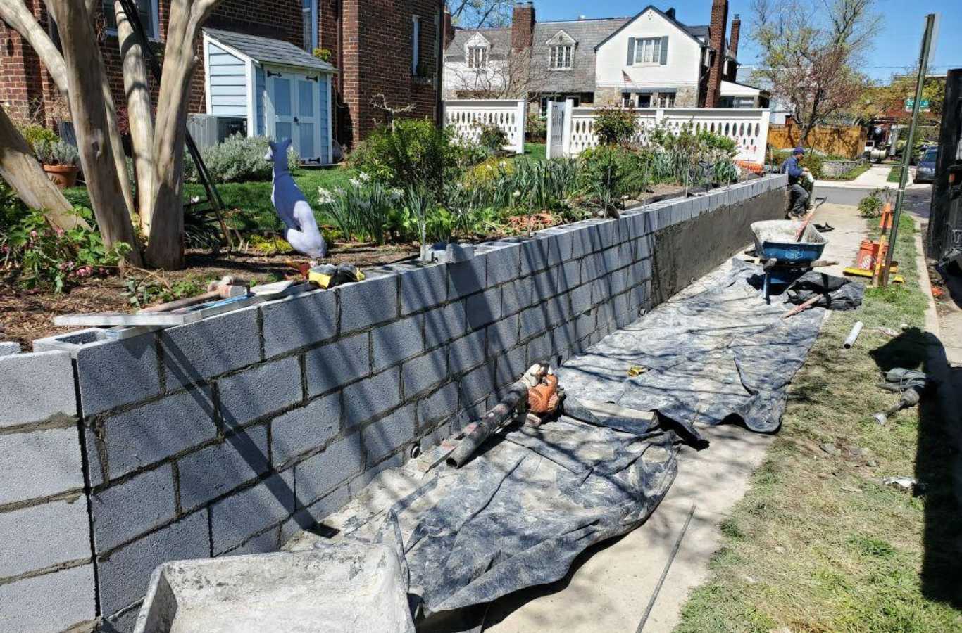
[[[88,209],[75,212],[92,224]],[[130,250],[122,242],[105,248],[100,233],[90,229],[53,229],[43,212],[34,209],[23,210],[13,224],[0,229],[0,270],[27,288],[62,292],[71,283],[109,274]]]

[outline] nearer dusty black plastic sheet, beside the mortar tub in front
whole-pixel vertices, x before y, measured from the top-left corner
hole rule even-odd
[[[585,548],[644,523],[679,441],[656,417],[634,432],[567,416],[511,426],[461,469],[432,471],[383,521],[344,531],[397,549],[423,613],[485,604],[563,578]]]

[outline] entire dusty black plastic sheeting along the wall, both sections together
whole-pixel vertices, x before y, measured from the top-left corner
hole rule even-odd
[[[564,577],[586,548],[646,521],[677,473],[676,445],[697,438],[695,423],[780,425],[825,310],[782,319],[791,304],[766,304],[751,284],[759,272],[734,260],[570,359],[559,370],[571,397],[560,419],[508,427],[460,470],[379,475],[342,510],[340,538],[391,545],[422,614]],[[647,371],[630,377],[632,366]],[[617,403],[619,415],[657,413],[596,417],[579,398]]]

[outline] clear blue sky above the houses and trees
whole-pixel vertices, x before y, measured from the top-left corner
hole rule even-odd
[[[614,17],[634,15],[647,6],[646,2],[630,0],[535,0],[539,20],[574,19],[586,17]],[[677,17],[686,24],[707,24],[711,0],[673,0],[652,3],[661,10],[674,7]],[[735,13],[742,15],[742,41],[739,61],[750,65],[756,51],[750,38],[751,0],[729,0],[728,19]],[[876,37],[870,67],[866,72],[876,80],[887,79],[914,65],[919,57],[925,14],[940,14],[935,56],[929,61],[929,72],[944,74],[951,68],[962,67],[962,10],[959,0],[878,0],[877,9],[883,14]]]

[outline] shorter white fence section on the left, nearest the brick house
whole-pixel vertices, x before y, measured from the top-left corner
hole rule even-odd
[[[496,125],[508,135],[505,150],[524,154],[524,125],[528,104],[524,99],[448,99],[444,101],[444,126],[454,128],[463,142],[477,143],[478,124]]]

